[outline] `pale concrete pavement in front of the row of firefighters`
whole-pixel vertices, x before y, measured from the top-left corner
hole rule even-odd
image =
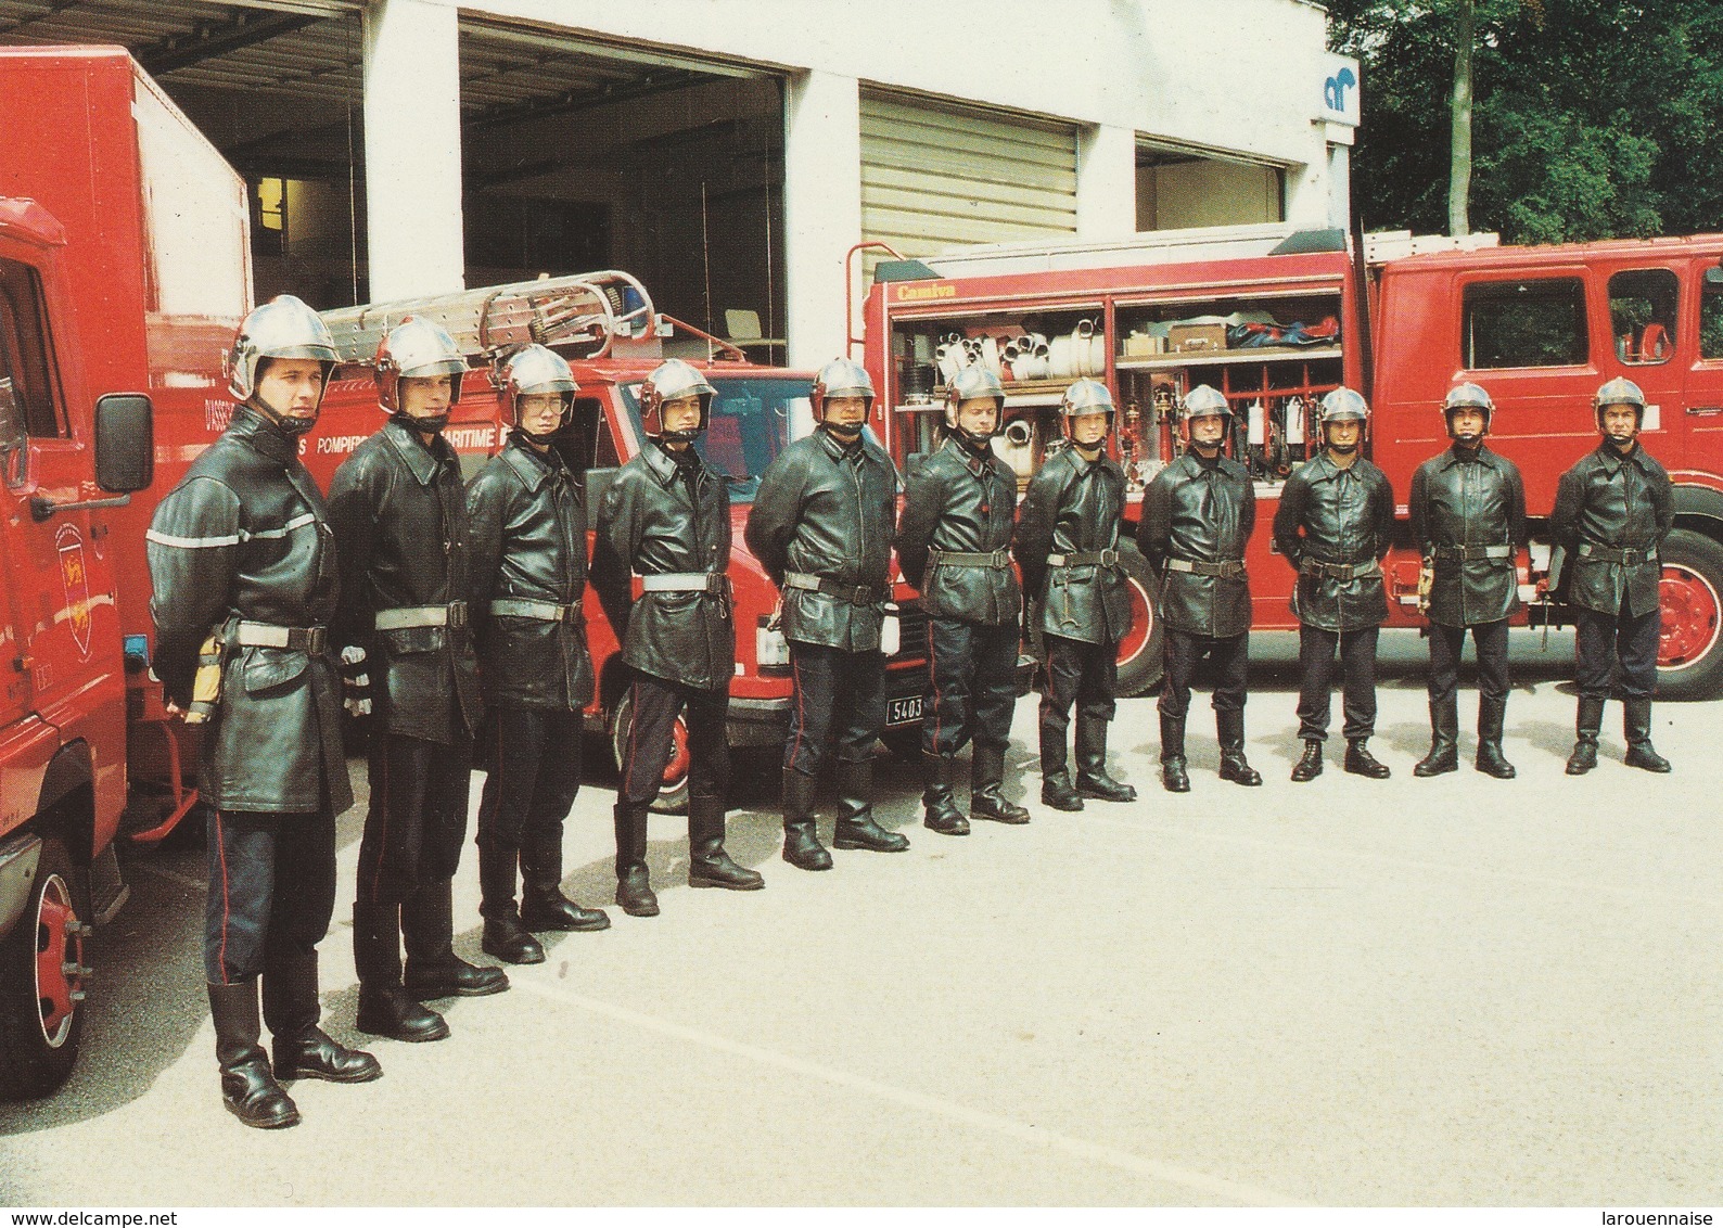
[[[882,761],[913,847],[810,875],[777,858],[775,763],[739,760],[729,847],[767,890],[687,890],[682,823],[655,816],[660,918],[551,937],[508,994],[448,1004],[450,1040],[376,1042],[381,1082],[298,1083],[279,1133],[219,1104],[202,854],[133,863],[78,1073],[0,1109],[0,1202],[1723,1202],[1723,708],[1661,704],[1676,772],[1651,777],[1611,704],[1604,763],[1568,778],[1571,637],[1516,632],[1520,778],[1471,770],[1466,691],[1466,765],[1415,780],[1423,649],[1394,634],[1373,742],[1394,778],[1330,753],[1292,785],[1296,644],[1253,648],[1263,789],[1215,777],[1199,699],[1192,792],[1161,792],[1132,699],[1115,765],[1141,801],[1048,811],[1029,698],[1010,772],[1034,823],[927,832],[913,768]],[[586,904],[610,899],[610,784],[569,825]],[[358,830],[355,809],[343,901]],[[476,909],[469,851],[469,958]],[[345,904],[322,963],[351,1042]]]

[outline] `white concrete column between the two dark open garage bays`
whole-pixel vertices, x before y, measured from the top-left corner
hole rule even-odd
[[[453,5],[372,0],[365,41],[370,300],[465,289]]]

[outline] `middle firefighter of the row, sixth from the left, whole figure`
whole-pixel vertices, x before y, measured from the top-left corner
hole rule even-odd
[[[944,441],[910,462],[898,518],[898,563],[927,613],[922,822],[942,835],[968,835],[953,785],[955,756],[970,741],[970,813],[1029,822],[999,792],[1022,641],[1011,570],[1017,474],[991,446],[1003,412],[999,379],[980,363],[963,367],[946,389]]]

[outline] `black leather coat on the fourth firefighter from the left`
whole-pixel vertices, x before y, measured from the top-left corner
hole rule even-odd
[[[598,510],[593,584],[606,589],[606,611],[627,611],[617,627],[625,663],[701,691],[727,691],[736,672],[729,489],[693,448],[682,456],[686,468],[650,443],[617,470]],[[693,572],[715,579],[700,592],[643,591],[629,601],[631,575]]]

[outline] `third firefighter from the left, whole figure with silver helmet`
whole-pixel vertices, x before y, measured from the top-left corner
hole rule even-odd
[[[562,823],[581,791],[586,503],[551,446],[574,410],[560,355],[526,346],[498,372],[508,443],[467,486],[472,625],[488,722],[479,749],[479,913],[484,951],[544,963],[536,932],[603,930],[603,911],[562,894]],[[515,870],[524,884],[515,909]]]

